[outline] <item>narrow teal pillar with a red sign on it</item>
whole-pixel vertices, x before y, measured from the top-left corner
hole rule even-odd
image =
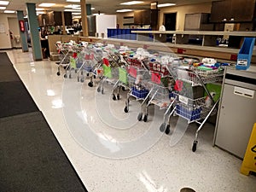
[[[20,28],[20,39],[21,39],[22,52],[28,52],[26,27],[25,27],[25,22],[24,22],[23,11],[20,11],[20,10],[17,11],[17,18],[18,18],[19,28]]]

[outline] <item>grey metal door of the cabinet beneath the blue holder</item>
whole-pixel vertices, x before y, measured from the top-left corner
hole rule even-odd
[[[215,144],[243,158],[253,124],[256,123],[255,111],[254,90],[224,84]]]

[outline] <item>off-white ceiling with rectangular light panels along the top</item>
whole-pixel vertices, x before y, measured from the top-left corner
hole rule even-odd
[[[127,0],[128,1],[128,0]],[[126,2],[125,0],[87,0],[86,3],[90,3],[92,7],[95,8],[93,13],[98,13],[100,11],[104,14],[116,14],[117,9],[149,9],[150,3],[154,0],[142,0],[144,3],[126,6],[120,5],[119,3]],[[64,5],[68,4],[79,4],[79,3],[67,3],[66,0],[9,0],[8,10],[23,10],[26,14],[26,3],[36,3],[37,7],[39,3],[56,3],[55,6],[46,10],[63,10]],[[204,3],[212,2],[212,0],[158,0],[158,3],[177,3],[178,5],[193,4],[193,3]],[[200,10],[198,10],[200,12]],[[0,13],[3,13],[1,10]]]

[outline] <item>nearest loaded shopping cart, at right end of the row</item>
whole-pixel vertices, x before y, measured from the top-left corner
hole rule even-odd
[[[195,131],[195,140],[192,151],[195,152],[198,143],[198,134],[207,119],[213,112],[217,112],[219,98],[214,98],[216,91],[207,89],[207,84],[222,82],[223,67],[169,67],[170,73],[176,80],[176,93],[172,94],[172,112],[167,120],[160,125],[160,131],[169,132],[170,117],[178,115],[188,120],[188,124],[199,124]],[[167,113],[166,113],[167,115]]]

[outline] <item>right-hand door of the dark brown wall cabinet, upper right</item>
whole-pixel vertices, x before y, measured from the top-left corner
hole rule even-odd
[[[234,21],[252,21],[255,9],[255,0],[232,0],[231,19]]]

